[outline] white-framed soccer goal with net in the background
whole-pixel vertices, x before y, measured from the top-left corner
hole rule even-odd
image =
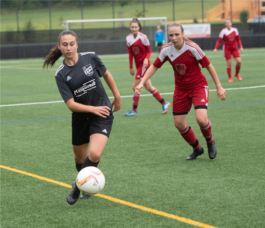
[[[152,52],[158,52],[154,39],[156,26],[160,25],[161,29],[164,30],[165,42],[167,43],[167,17],[137,19],[142,26],[142,32],[149,39]],[[79,52],[94,51],[99,55],[126,54],[126,36],[130,34],[131,21],[132,18],[67,20],[63,21],[62,26],[77,34]]]

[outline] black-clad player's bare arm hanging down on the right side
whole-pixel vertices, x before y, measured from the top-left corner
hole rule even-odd
[[[108,70],[106,70],[106,72],[103,74],[103,78],[105,82],[107,83],[107,85],[109,86],[109,88],[111,89],[113,96],[114,96],[114,99],[111,103],[112,107],[114,105],[113,112],[119,111],[121,109],[121,95],[118,91],[116,83],[111,73]]]

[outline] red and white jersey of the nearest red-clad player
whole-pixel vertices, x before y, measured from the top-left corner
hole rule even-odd
[[[184,41],[179,51],[172,42],[166,44],[161,49],[153,66],[160,68],[166,61],[172,65],[174,70],[175,89],[193,89],[208,85],[199,63],[204,68],[210,62],[197,44]]]

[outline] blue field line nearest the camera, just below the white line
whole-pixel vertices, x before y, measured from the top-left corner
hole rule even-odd
[[[225,107],[225,106],[234,106],[234,105],[257,105],[257,104],[265,104],[265,102],[252,102],[252,103],[238,103],[238,104],[224,104],[224,105],[211,105],[208,106],[209,108],[213,107]],[[194,107],[192,107],[194,109]],[[169,112],[172,112],[172,109],[168,109]],[[144,114],[144,113],[157,113],[161,112],[161,110],[152,110],[152,111],[141,111],[138,112],[138,114]],[[120,116],[124,115],[124,113],[113,113],[114,116]],[[128,117],[127,117],[128,118]],[[132,117],[131,117],[132,118]],[[57,121],[57,120],[69,120],[72,119],[71,117],[65,117],[65,118],[56,118],[56,119],[40,119],[40,120],[27,120],[27,121],[14,121],[14,122],[3,122],[2,124],[13,124],[13,123],[33,123],[33,122],[44,122],[44,121]]]

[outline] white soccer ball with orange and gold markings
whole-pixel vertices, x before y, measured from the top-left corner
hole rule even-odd
[[[83,168],[76,177],[77,188],[88,195],[99,193],[105,186],[105,176],[97,167]]]

